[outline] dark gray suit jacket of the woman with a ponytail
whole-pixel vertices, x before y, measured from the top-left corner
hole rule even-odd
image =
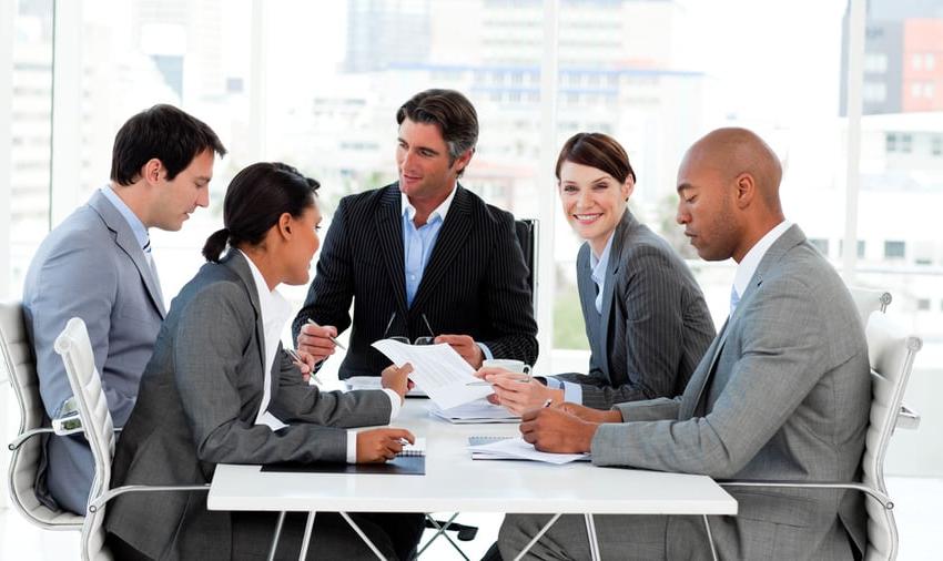
[[[206,483],[221,462],[343,462],[342,427],[389,420],[385,392],[321,392],[302,382],[280,347],[268,410],[291,426],[276,434],[255,425],[263,345],[258,295],[245,257],[231,252],[222,263],[201,267],[161,327],[115,450],[112,487]],[[153,559],[232,553],[230,513],[207,511],[205,492],[124,494],[109,508],[105,529]]]

